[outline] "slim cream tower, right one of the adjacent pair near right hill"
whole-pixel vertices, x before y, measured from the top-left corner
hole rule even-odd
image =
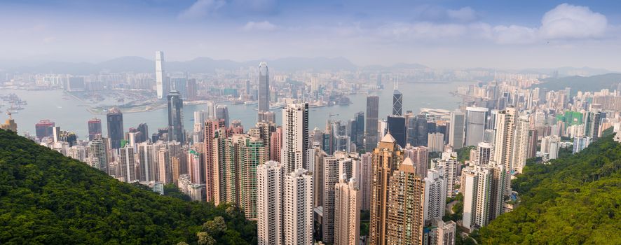
[[[526,166],[526,159],[528,158],[528,129],[530,126],[528,116],[520,116],[515,122],[512,163],[509,171],[515,170],[521,174],[522,169]]]

